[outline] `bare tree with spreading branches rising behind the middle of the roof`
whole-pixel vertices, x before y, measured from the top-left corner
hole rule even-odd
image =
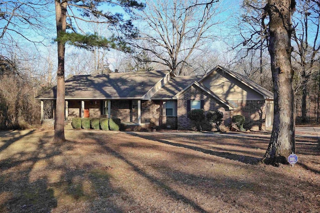
[[[212,1],[146,1],[146,8],[137,14],[144,20],[140,25],[145,25],[131,44],[151,53],[152,62],[180,75],[192,52],[216,38],[212,32],[221,23],[217,18],[220,12],[219,3]]]

